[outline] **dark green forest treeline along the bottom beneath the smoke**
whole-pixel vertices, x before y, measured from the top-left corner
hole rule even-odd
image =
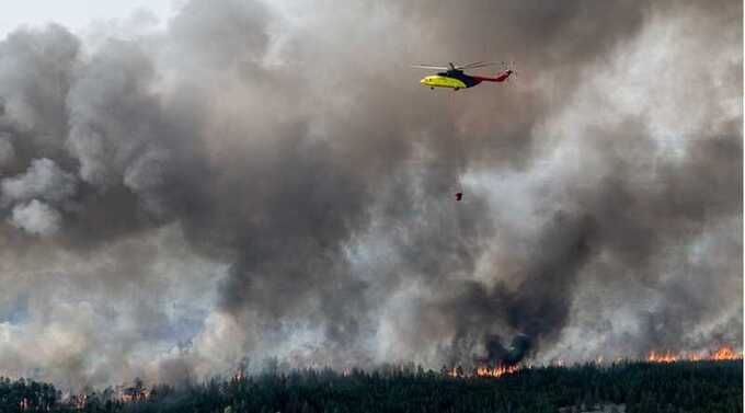
[[[49,383],[2,378],[0,412],[555,413],[615,403],[628,413],[734,413],[743,412],[743,362],[540,367],[498,379],[454,378],[409,365],[371,372],[264,372],[180,387],[138,382],[127,389],[133,400],[126,402],[112,388],[64,399]]]

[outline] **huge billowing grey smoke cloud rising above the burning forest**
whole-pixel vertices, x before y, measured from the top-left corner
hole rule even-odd
[[[0,374],[741,348],[741,16],[193,0],[162,31],[19,28]],[[492,58],[517,77],[432,92],[408,68]]]

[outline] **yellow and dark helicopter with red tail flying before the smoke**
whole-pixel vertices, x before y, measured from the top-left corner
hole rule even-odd
[[[435,88],[460,90],[473,88],[481,82],[504,82],[507,80],[509,74],[515,72],[512,69],[503,69],[496,73],[495,77],[466,74],[463,72],[463,70],[467,69],[475,69],[494,65],[496,64],[488,61],[474,61],[472,64],[462,66],[456,66],[452,62],[449,62],[448,66],[413,65],[412,67],[427,70],[443,70],[437,72],[437,74],[431,74],[422,78],[422,80],[420,80],[420,84],[423,87],[428,87],[432,90],[435,90]]]

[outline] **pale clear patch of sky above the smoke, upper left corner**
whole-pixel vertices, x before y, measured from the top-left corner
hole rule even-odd
[[[121,19],[138,10],[148,10],[164,23],[180,0],[0,0],[0,36],[19,25],[60,23],[72,31],[92,21]]]

